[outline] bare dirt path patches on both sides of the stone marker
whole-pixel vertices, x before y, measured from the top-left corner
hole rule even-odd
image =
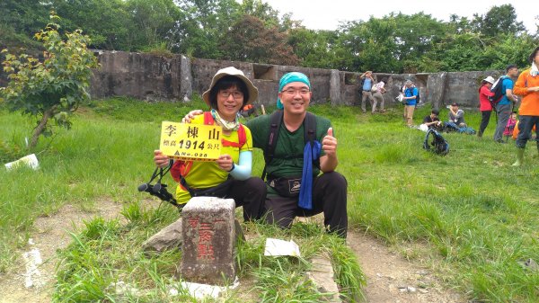
[[[83,226],[84,220],[93,217],[117,218],[120,210],[119,204],[100,201],[93,212],[66,205],[53,216],[38,218],[35,222],[37,233],[32,236],[34,245],[25,248],[25,252],[31,248],[40,251],[43,261],[39,266],[40,276],[33,277],[32,281],[39,287],[24,287],[26,268],[21,258],[13,272],[0,275],[0,303],[50,302],[57,263],[55,253],[69,244],[71,238],[67,231]],[[347,243],[358,255],[367,275],[367,302],[466,302],[457,293],[442,288],[432,273],[391,252],[372,236],[349,232]]]

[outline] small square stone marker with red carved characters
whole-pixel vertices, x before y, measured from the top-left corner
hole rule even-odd
[[[234,283],[234,209],[232,199],[194,197],[181,210],[183,281]]]

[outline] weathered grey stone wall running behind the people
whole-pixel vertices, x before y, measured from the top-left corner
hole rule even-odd
[[[313,87],[313,103],[331,102],[333,105],[359,105],[360,73],[335,69],[274,66],[238,61],[186,58],[177,55],[164,58],[122,51],[96,51],[102,67],[94,71],[91,94],[101,98],[127,95],[147,101],[168,100],[189,102],[192,94],[201,95],[219,68],[237,67],[243,70],[259,89],[258,104],[275,105],[278,80],[288,72],[302,72],[309,76]],[[458,102],[465,108],[477,108],[478,87],[486,76],[498,77],[501,71],[384,74],[376,79],[389,78],[384,94],[386,106],[396,104],[404,81],[411,79],[420,89],[421,102],[434,108]]]

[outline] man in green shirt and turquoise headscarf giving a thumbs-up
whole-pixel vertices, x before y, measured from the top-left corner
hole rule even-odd
[[[316,123],[315,140],[320,143],[319,167],[316,162],[305,163],[304,123],[307,108],[311,102],[311,84],[307,76],[301,73],[288,73],[280,79],[277,106],[283,111],[283,118],[278,126],[278,140],[270,162],[266,164],[268,173],[268,195],[265,207],[269,223],[280,227],[290,227],[297,216],[311,217],[323,212],[326,228],[342,237],[346,237],[347,217],[347,181],[342,174],[335,172],[337,160],[337,138],[333,137],[331,121],[314,116]],[[249,120],[246,126],[252,131],[252,145],[266,150],[270,135],[270,115],[262,115]],[[311,175],[305,175],[305,167],[313,165]],[[323,174],[320,174],[322,172]],[[303,173],[303,177],[302,177]],[[305,180],[309,178],[310,180]],[[311,179],[312,178],[312,179]],[[307,199],[312,204],[301,207],[301,195],[294,195],[294,187],[308,186]],[[285,183],[286,192],[278,192],[277,183]],[[310,183],[310,184],[309,184]],[[288,185],[288,186],[286,186]],[[282,188],[282,186],[281,186]],[[312,192],[311,192],[312,191]],[[298,192],[299,193],[299,192]],[[304,203],[305,204],[305,203]],[[307,203],[308,204],[308,203]]]

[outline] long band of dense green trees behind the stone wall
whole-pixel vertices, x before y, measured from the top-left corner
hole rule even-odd
[[[83,29],[92,48],[352,72],[526,67],[524,54],[539,41],[536,29],[524,31],[512,4],[474,13],[471,20],[389,13],[341,22],[335,31],[313,31],[261,0],[6,0],[0,3],[6,12],[0,15],[0,46],[31,46],[32,33],[47,22],[50,9],[62,15],[59,24],[66,31]]]

